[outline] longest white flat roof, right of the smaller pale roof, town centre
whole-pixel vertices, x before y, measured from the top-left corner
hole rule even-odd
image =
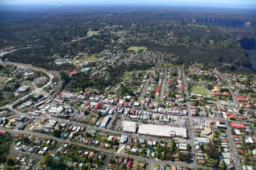
[[[171,135],[187,138],[187,129],[176,128],[171,126],[159,126],[152,124],[142,124],[139,125],[139,134],[171,137]]]

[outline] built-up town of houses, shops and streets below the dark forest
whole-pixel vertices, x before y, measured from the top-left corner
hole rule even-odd
[[[44,169],[61,160],[75,169],[253,169],[254,75],[164,64],[162,53],[146,49],[131,48],[122,59],[108,50],[100,55],[77,59],[81,69],[62,74],[93,81],[108,79],[106,68],[118,62],[156,67],[126,71],[102,91],[73,92],[46,70],[3,65],[0,133],[14,137],[8,168]],[[89,67],[95,62],[101,65]]]

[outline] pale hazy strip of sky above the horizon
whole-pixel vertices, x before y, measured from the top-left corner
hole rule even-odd
[[[0,5],[163,5],[256,9],[256,0],[0,0]]]

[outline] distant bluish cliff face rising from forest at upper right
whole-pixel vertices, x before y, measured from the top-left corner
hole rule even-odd
[[[241,19],[228,18],[184,18],[183,20],[194,23],[213,24],[232,28],[256,28],[256,21],[244,21]]]

